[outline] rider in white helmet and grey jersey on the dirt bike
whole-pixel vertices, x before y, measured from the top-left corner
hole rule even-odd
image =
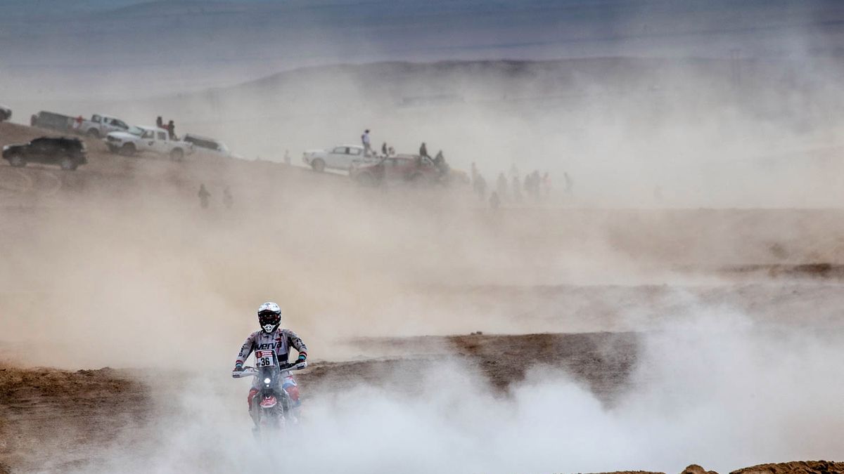
[[[272,349],[278,358],[279,364],[287,364],[288,353],[290,348],[299,351],[299,358],[296,363],[305,362],[308,358],[308,348],[305,342],[302,342],[296,333],[289,329],[281,329],[281,308],[278,304],[268,301],[258,308],[258,324],[261,326],[260,331],[255,331],[246,337],[246,342],[243,342],[241,352],[237,353],[235,360],[235,369],[233,372],[241,372],[246,358],[256,350]],[[255,380],[252,384],[252,389],[247,396],[249,404],[249,415],[252,420],[258,423],[257,403],[252,403],[255,395],[258,393],[259,380]],[[288,372],[282,380],[282,388],[290,396],[294,402],[295,407],[300,405],[299,401],[299,387],[296,386],[296,381]]]

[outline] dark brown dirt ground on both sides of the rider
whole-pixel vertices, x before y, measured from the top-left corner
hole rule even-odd
[[[632,334],[535,334],[525,336],[460,336],[382,339],[359,341],[378,352],[379,346],[393,351],[425,353],[403,358],[347,363],[315,363],[298,379],[303,393],[322,388],[344,390],[361,383],[390,390],[418,391],[414,379],[395,385],[387,374],[413,374],[425,365],[457,355],[466,364],[478,366],[487,382],[501,395],[518,384],[527,364],[548,364],[573,374],[605,401],[624,390],[636,359],[636,337]],[[448,353],[433,353],[436,347],[451,347]],[[160,379],[162,373],[156,371]],[[90,462],[94,446],[102,448],[117,439],[127,427],[143,427],[154,413],[173,407],[156,406],[146,385],[152,374],[137,370],[0,369],[0,466],[21,471],[62,471]],[[176,379],[176,377],[173,377]],[[51,423],[45,423],[49,420]],[[53,430],[62,427],[62,444],[51,441]],[[51,463],[41,463],[50,455]],[[76,453],[57,455],[55,453]],[[80,464],[81,463],[81,464]]]

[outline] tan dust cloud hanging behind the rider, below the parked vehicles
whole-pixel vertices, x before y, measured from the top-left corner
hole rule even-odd
[[[268,299],[318,358],[336,356],[335,342],[349,337],[525,331],[505,310],[484,309],[483,294],[457,308],[459,319],[449,311],[471,285],[538,283],[544,277],[529,269],[549,252],[562,258],[541,230],[528,233],[537,245],[521,248],[519,223],[443,206],[435,192],[398,197],[306,177],[283,183],[279,196],[264,191],[278,175],[242,165],[176,184],[165,171],[144,175],[116,200],[106,189],[71,195],[67,207],[8,209],[19,244],[3,253],[3,355],[66,368],[170,366],[181,364],[181,347],[202,342],[204,363],[228,366]],[[203,179],[215,199],[225,179],[237,211],[197,213],[193,180]],[[308,186],[307,200],[296,197]],[[567,251],[602,254],[592,232]],[[552,277],[557,264],[544,265]],[[579,257],[565,270],[578,265],[589,267]],[[51,351],[30,351],[45,337]]]

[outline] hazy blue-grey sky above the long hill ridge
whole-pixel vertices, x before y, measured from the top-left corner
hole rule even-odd
[[[0,95],[159,94],[336,62],[837,55],[842,21],[825,0],[13,0]]]

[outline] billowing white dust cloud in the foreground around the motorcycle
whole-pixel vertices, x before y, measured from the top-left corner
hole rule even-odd
[[[252,439],[247,384],[223,380],[225,371],[219,380],[198,375],[185,380],[176,411],[154,423],[154,439],[118,441],[82,471],[678,472],[694,462],[723,472],[841,455],[836,337],[771,331],[701,307],[642,340],[641,364],[613,407],[544,366],[495,396],[472,369],[446,359],[385,375],[413,380],[411,391],[304,387],[300,430],[270,448]]]

